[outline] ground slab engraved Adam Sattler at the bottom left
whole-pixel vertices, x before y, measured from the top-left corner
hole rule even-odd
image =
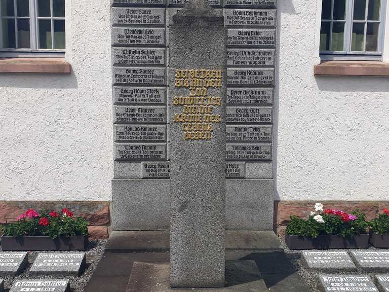
[[[23,280],[16,281],[10,290],[10,292],[22,291],[70,292],[70,285],[69,280],[60,279]]]

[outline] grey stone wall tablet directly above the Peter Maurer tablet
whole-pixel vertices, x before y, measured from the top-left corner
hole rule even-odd
[[[156,87],[113,87],[115,103],[166,104],[166,88]]]

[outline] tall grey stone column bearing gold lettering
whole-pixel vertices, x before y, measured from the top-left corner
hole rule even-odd
[[[171,287],[224,286],[227,31],[190,0],[169,28]]]

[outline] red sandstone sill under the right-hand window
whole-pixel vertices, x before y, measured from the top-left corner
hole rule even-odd
[[[315,75],[389,76],[389,63],[378,61],[323,61]]]

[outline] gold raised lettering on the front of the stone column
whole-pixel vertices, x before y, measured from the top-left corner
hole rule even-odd
[[[176,69],[174,86],[189,89],[188,96],[174,96],[173,105],[182,106],[182,113],[174,115],[175,123],[182,123],[186,140],[210,140],[214,123],[220,123],[214,108],[221,98],[209,96],[209,88],[222,87],[222,70]]]

